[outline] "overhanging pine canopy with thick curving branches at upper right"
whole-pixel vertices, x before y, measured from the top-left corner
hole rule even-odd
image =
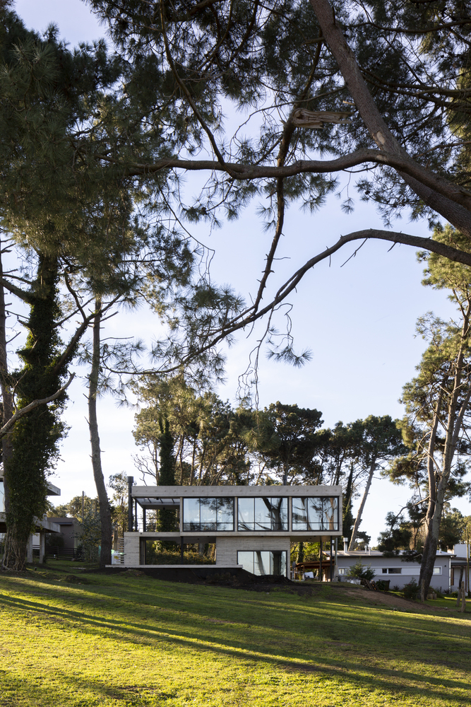
[[[201,194],[179,206],[190,220],[216,223],[221,215],[235,218],[254,196],[268,200],[262,211],[274,234],[252,303],[223,322],[215,317],[203,345],[273,312],[317,262],[352,240],[382,238],[471,264],[456,243],[365,224],[323,252],[314,245],[313,257],[270,290],[285,209],[290,202],[318,209],[342,172],[360,173],[359,197],[378,205],[386,225],[409,208],[430,223],[444,218],[471,237],[463,127],[471,107],[467,4],[89,4],[120,51],[147,72],[145,95],[155,102],[159,124],[169,138],[181,136],[181,149],[170,158],[124,162],[127,173],[203,170]],[[172,87],[167,100],[157,95],[164,81]],[[232,130],[229,115],[241,108],[243,123]],[[344,208],[352,208],[350,200]],[[274,353],[296,361],[290,346]]]

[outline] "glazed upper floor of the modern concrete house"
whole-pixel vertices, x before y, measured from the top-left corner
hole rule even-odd
[[[186,536],[270,533],[302,539],[342,533],[341,486],[132,486],[130,481],[129,494],[134,531],[157,533],[161,525],[154,512],[171,509],[176,511],[172,531]]]

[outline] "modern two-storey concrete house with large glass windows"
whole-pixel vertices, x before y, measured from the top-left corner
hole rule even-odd
[[[182,559],[185,544],[215,543],[217,567],[287,575],[291,542],[333,543],[342,535],[341,486],[132,486],[128,480],[127,567],[147,564],[148,543],[172,540]],[[177,510],[178,520],[173,530],[156,532],[148,513],[164,508]]]

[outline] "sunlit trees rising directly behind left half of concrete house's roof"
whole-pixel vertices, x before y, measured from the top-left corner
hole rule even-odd
[[[245,408],[232,410],[213,392],[198,395],[181,376],[169,379],[148,377],[138,395],[148,407],[136,416],[134,438],[148,450],[141,469],[160,483],[165,426],[172,436],[175,472],[179,484],[245,484],[253,479],[254,453],[270,445],[273,430],[266,416]],[[168,438],[169,439],[169,438]],[[170,442],[166,455],[170,453]]]

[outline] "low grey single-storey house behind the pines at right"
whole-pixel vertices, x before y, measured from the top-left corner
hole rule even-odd
[[[434,566],[434,577],[431,580],[431,587],[444,592],[451,585],[451,554],[449,552],[436,553]],[[374,580],[390,580],[390,588],[398,587],[403,589],[412,578],[419,581],[420,565],[417,562],[403,562],[401,556],[385,557],[378,550],[354,550],[338,551],[337,554],[337,576],[339,580],[347,578],[350,567],[358,561],[362,565],[371,567],[374,571]]]

